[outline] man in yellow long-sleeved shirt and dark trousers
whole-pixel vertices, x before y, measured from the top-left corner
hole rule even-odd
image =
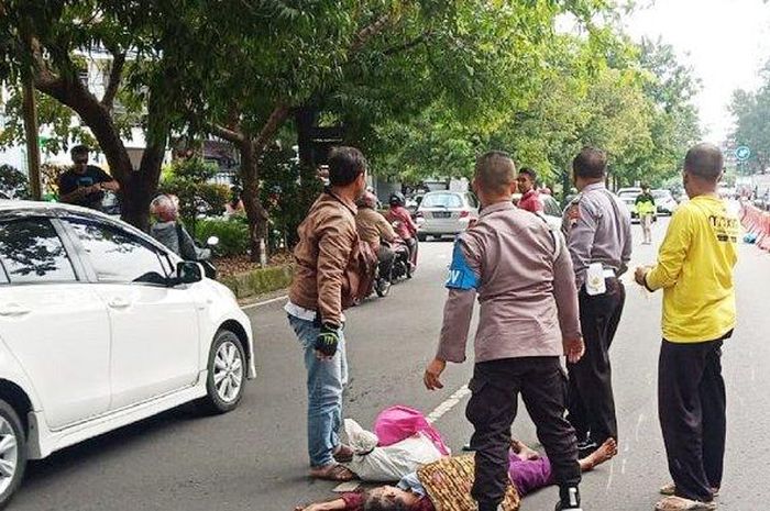
[[[672,485],[657,510],[712,510],[725,454],[722,344],[736,324],[733,268],[738,219],[716,188],[722,152],[692,147],[684,159],[682,204],[669,225],[658,264],[637,268],[636,281],[663,289],[663,343],[658,368],[658,413]]]

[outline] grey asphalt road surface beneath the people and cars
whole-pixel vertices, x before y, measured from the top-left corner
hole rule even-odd
[[[657,238],[664,224],[656,225]],[[638,226],[635,233],[640,234]],[[470,363],[451,366],[440,392],[427,392],[421,385],[440,326],[450,255],[449,243],[422,244],[414,280],[350,311],[346,416],[370,426],[389,404],[428,413],[468,381]],[[740,325],[724,356],[729,436],[721,509],[759,511],[766,509],[770,480],[770,256],[751,246],[743,246],[740,255]],[[653,247],[635,251],[635,263],[653,259]],[[627,288],[612,351],[620,454],[585,477],[586,511],[651,510],[658,487],[668,481],[656,404],[660,297],[635,285]],[[305,375],[282,304],[249,313],[258,376],[237,411],[204,418],[182,408],[33,463],[10,509],[277,511],[329,496],[333,484],[305,476]],[[471,433],[464,404],[437,422],[455,451]],[[537,445],[521,410],[514,432]],[[554,500],[556,490],[546,489],[527,497],[521,509],[550,510]]]

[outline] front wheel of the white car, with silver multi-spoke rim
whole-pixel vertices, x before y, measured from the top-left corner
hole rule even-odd
[[[246,380],[246,356],[241,340],[228,330],[213,337],[209,352],[207,396],[201,404],[210,413],[234,410],[243,397]]]

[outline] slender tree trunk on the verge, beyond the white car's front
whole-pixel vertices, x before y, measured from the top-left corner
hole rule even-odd
[[[243,208],[249,220],[249,244],[251,247],[251,260],[265,264],[267,262],[267,225],[270,215],[260,200],[260,155],[262,151],[255,151],[254,142],[250,136],[239,146],[241,153],[241,180],[243,181]]]

